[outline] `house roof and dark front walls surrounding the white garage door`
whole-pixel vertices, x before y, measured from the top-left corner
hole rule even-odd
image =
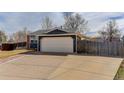
[[[32,38],[31,38],[32,36]],[[31,43],[31,39],[33,39],[33,36],[37,37],[37,43]],[[28,40],[29,47],[30,48],[35,48],[37,51],[40,51],[40,46],[41,46],[41,39],[44,37],[72,37],[73,38],[73,52],[77,52],[77,41],[79,39],[79,36],[75,33],[60,30],[60,29],[54,29],[51,31],[36,31],[34,33],[30,34],[30,40]]]

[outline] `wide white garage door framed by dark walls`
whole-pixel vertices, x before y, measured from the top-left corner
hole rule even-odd
[[[44,37],[40,44],[42,52],[73,53],[73,39],[71,37]]]

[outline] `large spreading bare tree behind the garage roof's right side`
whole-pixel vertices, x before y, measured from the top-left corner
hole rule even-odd
[[[70,14],[64,16],[65,23],[64,28],[72,32],[85,33],[87,29],[88,21],[86,21],[80,14]]]

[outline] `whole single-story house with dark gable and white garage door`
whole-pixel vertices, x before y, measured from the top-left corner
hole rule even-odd
[[[79,33],[62,29],[38,30],[27,36],[28,48],[41,52],[77,52],[77,41],[81,39]]]

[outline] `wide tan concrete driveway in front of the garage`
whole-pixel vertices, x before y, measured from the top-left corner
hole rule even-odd
[[[113,79],[121,58],[78,55],[22,55],[0,64],[0,79]]]

